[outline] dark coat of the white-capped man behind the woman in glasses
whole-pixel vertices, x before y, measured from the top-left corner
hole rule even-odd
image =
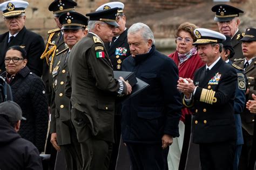
[[[9,32],[0,35],[0,73],[4,72],[4,57],[6,50],[14,45],[24,46],[28,56],[28,66],[31,72],[39,77],[42,75],[43,61],[40,59],[44,52],[44,40],[35,32],[26,30],[24,26],[17,36],[8,44]]]

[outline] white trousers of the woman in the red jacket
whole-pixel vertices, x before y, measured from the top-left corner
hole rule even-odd
[[[169,147],[169,153],[167,157],[169,170],[178,170],[180,155],[183,146],[185,132],[185,124],[182,121],[179,121],[179,137],[173,138],[173,143]]]

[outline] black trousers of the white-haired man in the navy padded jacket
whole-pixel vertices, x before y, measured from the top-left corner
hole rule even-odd
[[[167,170],[167,155],[161,144],[133,144],[126,143],[131,159],[132,170]]]

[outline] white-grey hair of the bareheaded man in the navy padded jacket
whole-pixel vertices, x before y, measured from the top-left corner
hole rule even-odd
[[[143,24],[143,23],[136,23],[136,24],[133,24],[130,29],[127,31],[128,34],[132,34],[132,33],[137,33],[139,32],[141,33],[142,35],[142,38],[147,41],[149,39],[152,40],[153,44],[155,43],[154,41],[154,34],[153,32],[151,31],[150,27],[147,26],[146,24]]]

